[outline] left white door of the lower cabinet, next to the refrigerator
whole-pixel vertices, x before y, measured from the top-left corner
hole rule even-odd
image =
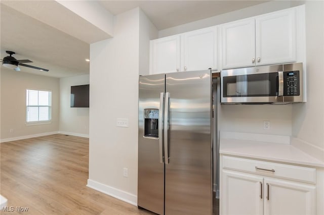
[[[222,171],[222,214],[262,214],[263,178],[238,172]]]

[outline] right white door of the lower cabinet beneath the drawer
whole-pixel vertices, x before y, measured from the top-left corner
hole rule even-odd
[[[315,186],[264,179],[264,214],[315,213]]]

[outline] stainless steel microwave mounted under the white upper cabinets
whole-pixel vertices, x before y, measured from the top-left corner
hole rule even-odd
[[[221,103],[304,102],[303,64],[280,64],[221,71]]]

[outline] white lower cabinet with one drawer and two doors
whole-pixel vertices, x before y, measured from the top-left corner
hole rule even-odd
[[[230,156],[221,159],[220,214],[316,214],[314,168]],[[309,175],[305,178],[303,172]]]

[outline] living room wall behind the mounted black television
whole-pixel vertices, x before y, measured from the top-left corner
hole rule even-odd
[[[89,137],[89,108],[70,108],[71,86],[89,84],[89,78],[79,75],[60,79],[60,133]]]

